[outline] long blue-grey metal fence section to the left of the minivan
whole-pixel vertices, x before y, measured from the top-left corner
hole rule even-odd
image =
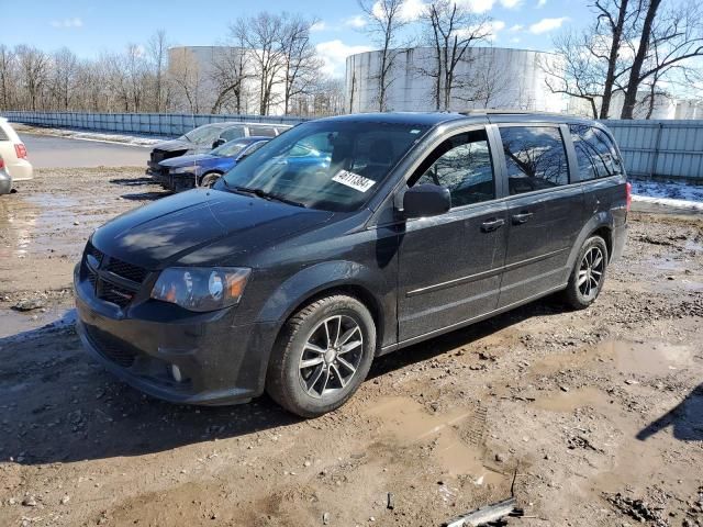
[[[161,136],[177,136],[197,126],[223,121],[275,124],[306,121],[290,116],[181,113],[3,112],[2,115],[11,122],[36,126]]]

